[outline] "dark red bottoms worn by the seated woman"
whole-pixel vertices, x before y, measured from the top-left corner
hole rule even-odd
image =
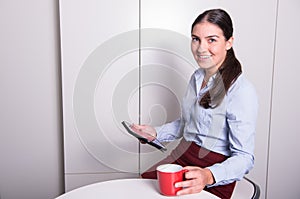
[[[201,168],[205,168],[211,166],[215,163],[221,163],[226,160],[228,157],[222,154],[209,151],[204,149],[194,142],[187,142],[184,139],[180,142],[180,144],[172,151],[172,153],[167,156],[162,161],[153,165],[150,169],[142,174],[142,178],[149,179],[157,179],[156,175],[156,167],[161,164],[179,164],[181,166],[198,166]],[[215,187],[207,188],[204,190],[222,198],[222,199],[230,199],[232,192],[235,187],[235,182],[220,185]]]

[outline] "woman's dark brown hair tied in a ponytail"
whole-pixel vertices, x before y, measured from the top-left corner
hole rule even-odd
[[[222,9],[207,10],[200,14],[192,24],[192,31],[196,24],[207,21],[217,25],[228,41],[232,37],[233,26],[230,16]],[[199,104],[204,108],[215,108],[224,99],[228,89],[242,73],[242,66],[235,57],[233,48],[227,50],[226,58],[214,79],[213,86],[200,99]]]

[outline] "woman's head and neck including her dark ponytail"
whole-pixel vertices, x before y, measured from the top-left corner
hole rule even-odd
[[[232,21],[225,11],[206,11],[196,18],[192,25],[191,49],[198,65],[205,69],[202,86],[216,74],[214,86],[199,102],[203,107],[217,106],[242,73],[232,45]]]

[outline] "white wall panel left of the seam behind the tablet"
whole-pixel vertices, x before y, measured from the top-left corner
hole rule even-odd
[[[138,117],[138,8],[60,1],[66,190],[139,172],[138,142],[121,129]]]

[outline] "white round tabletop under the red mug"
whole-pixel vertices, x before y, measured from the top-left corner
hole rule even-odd
[[[163,196],[159,193],[157,180],[150,179],[120,179],[99,182],[87,186],[83,186],[67,192],[56,199],[126,199],[126,198],[187,198],[187,199],[216,199],[217,196],[202,191],[196,194],[184,196]]]

